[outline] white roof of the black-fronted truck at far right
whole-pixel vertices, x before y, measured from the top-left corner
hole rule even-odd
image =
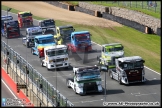
[[[139,60],[143,60],[143,59],[140,56],[130,56],[130,57],[118,58],[118,60],[121,62],[127,62],[127,61],[139,61]]]

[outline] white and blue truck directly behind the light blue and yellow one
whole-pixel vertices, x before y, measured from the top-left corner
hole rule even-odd
[[[26,28],[26,37],[22,38],[23,45],[25,45],[27,48],[33,47],[35,45],[34,37],[42,34],[43,31],[40,27]]]

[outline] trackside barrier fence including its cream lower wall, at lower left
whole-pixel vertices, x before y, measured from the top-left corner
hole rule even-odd
[[[7,51],[9,52],[9,55],[7,55]],[[1,53],[4,57],[6,57],[6,59],[8,58],[10,66],[14,71],[16,71],[16,75],[21,76],[21,79],[23,79],[21,82],[23,81],[24,83],[27,83],[25,79],[28,80],[27,87],[35,93],[41,102],[47,102],[47,105],[49,103],[49,105],[51,104],[52,106],[56,106],[57,103],[59,103],[60,106],[74,106],[37,70],[35,70],[32,65],[30,65],[24,58],[21,57],[21,55],[15,52],[4,41],[1,41]],[[29,72],[28,74],[27,71]],[[26,76],[27,78],[25,78]],[[17,77],[16,82],[18,82]],[[39,94],[42,95],[40,96]]]

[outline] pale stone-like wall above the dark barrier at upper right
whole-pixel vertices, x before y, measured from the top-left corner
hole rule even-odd
[[[94,10],[94,11],[98,10],[101,13],[105,12],[105,13],[112,14],[114,16],[128,19],[130,21],[135,21],[137,23],[140,23],[141,25],[150,27],[155,34],[159,34],[157,33],[157,29],[161,28],[160,19],[143,14],[141,12],[128,10],[125,8],[119,8],[119,7],[105,7],[100,5],[93,5],[87,2],[79,2],[79,7],[86,8],[89,10]]]

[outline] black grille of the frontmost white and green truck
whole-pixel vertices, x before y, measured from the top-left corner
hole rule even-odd
[[[84,83],[83,91],[86,91],[86,93],[88,93],[88,92],[97,92],[98,91],[98,86],[97,86],[96,82]]]

